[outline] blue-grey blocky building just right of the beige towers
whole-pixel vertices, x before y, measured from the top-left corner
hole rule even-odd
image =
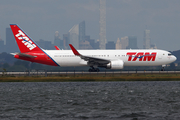
[[[128,36],[128,40],[129,40],[129,45],[127,49],[138,49],[136,36]]]

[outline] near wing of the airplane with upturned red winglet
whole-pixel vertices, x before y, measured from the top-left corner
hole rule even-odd
[[[79,56],[81,59],[85,61],[88,61],[88,64],[90,65],[105,65],[110,62],[109,60],[106,60],[106,59],[81,55],[71,44],[69,44],[69,46],[71,50],[73,51],[74,55]]]

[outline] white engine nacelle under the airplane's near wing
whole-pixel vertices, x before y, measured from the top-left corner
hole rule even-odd
[[[124,62],[122,60],[114,60],[107,64],[107,69],[123,69]]]

